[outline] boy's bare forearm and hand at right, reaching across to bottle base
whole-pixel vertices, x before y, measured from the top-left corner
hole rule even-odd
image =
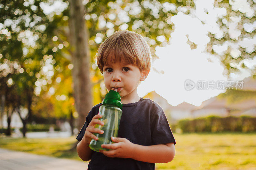
[[[116,143],[101,145],[101,147],[111,150],[100,150],[105,156],[111,158],[132,158],[149,163],[167,163],[171,162],[175,155],[175,146],[173,143],[143,146],[133,144],[126,138],[111,137],[111,139]]]

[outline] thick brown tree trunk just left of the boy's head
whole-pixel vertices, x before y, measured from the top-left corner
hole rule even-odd
[[[82,0],[69,0],[69,31],[72,51],[72,78],[75,107],[78,112],[78,129],[92,108],[92,85],[90,81],[89,33],[84,19]]]

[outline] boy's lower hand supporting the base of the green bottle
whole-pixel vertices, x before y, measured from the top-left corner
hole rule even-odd
[[[105,156],[110,158],[131,158],[134,151],[134,144],[126,138],[111,137],[114,144],[102,144],[102,148],[111,149],[110,151],[99,150]]]

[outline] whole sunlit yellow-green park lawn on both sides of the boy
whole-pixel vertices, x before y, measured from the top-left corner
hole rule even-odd
[[[173,133],[177,144],[172,162],[156,164],[167,169],[256,169],[256,133]],[[0,147],[15,151],[81,160],[69,150],[76,137],[1,138]],[[82,161],[82,160],[81,160]],[[226,167],[226,168],[225,168]]]

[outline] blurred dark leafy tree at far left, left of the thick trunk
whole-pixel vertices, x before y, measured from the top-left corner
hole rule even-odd
[[[41,3],[43,2],[24,0],[6,0],[0,3],[0,64],[6,67],[13,64],[12,67],[17,70],[15,74],[9,74],[8,80],[12,81],[16,91],[13,93],[18,99],[19,106],[16,107],[28,108],[28,115],[21,117],[24,137],[26,124],[32,115],[31,105],[36,98],[35,82],[37,79],[51,79],[50,75],[41,74],[44,73],[41,71],[41,65],[44,64],[42,54],[54,53],[49,42],[51,39],[47,39],[47,36],[52,35],[52,29],[57,25],[52,23],[52,17],[44,14]],[[1,74],[0,77],[6,77],[8,71],[13,72],[13,68],[9,68],[7,73]],[[1,86],[3,85],[4,83]]]

